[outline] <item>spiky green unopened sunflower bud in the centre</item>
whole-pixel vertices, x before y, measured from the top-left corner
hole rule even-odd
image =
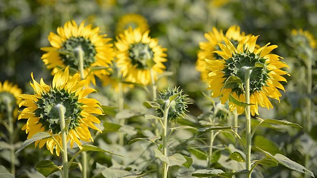
[[[184,118],[187,112],[188,98],[187,94],[182,94],[183,90],[179,91],[179,88],[167,89],[159,93],[159,97],[155,99],[154,102],[159,103],[159,108],[156,110],[159,117],[164,116],[164,109],[166,104],[170,104],[168,110],[167,119],[169,121],[176,120],[177,118]],[[176,96],[176,97],[175,97]],[[175,97],[175,98],[174,98]],[[172,98],[172,99],[171,99]]]

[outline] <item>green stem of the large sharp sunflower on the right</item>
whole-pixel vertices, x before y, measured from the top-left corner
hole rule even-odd
[[[250,104],[250,69],[246,69],[245,71],[245,97],[246,103]],[[246,115],[246,169],[251,170],[251,112],[250,106],[247,106],[245,109]],[[247,178],[251,178],[251,173],[247,175]]]

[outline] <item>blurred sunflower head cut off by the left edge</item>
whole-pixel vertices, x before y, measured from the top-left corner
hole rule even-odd
[[[19,94],[22,93],[22,89],[19,89],[17,85],[4,81],[3,84],[0,82],[0,118],[6,117],[7,107],[12,107],[13,118],[17,116],[18,105],[20,103]]]

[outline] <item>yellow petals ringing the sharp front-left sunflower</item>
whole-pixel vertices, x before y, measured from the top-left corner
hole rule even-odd
[[[48,132],[50,134],[57,134],[53,136],[53,138],[62,146],[61,136],[59,133],[54,133],[53,128],[47,127],[48,125],[44,125],[42,123],[47,123],[47,120],[43,120],[42,115],[44,113],[37,113],[38,110],[41,110],[40,101],[42,103],[49,103],[52,101],[45,100],[45,96],[47,93],[50,93],[51,96],[57,97],[54,95],[56,92],[64,92],[70,97],[73,95],[77,101],[74,104],[79,105],[80,113],[77,115],[80,118],[75,118],[74,121],[78,123],[75,127],[69,128],[66,132],[67,134],[67,142],[70,141],[71,148],[73,147],[74,142],[77,143],[78,146],[81,145],[79,140],[84,141],[93,141],[92,135],[88,128],[92,128],[94,130],[100,131],[94,123],[99,124],[100,120],[94,116],[93,114],[102,115],[102,110],[100,107],[100,102],[96,99],[85,98],[89,93],[95,91],[95,89],[83,89],[85,86],[86,80],[79,80],[79,74],[75,74],[73,77],[69,77],[69,69],[66,67],[65,69],[59,70],[54,78],[53,78],[53,86],[48,86],[44,83],[43,79],[41,79],[40,83],[36,82],[33,78],[33,73],[31,74],[33,84],[30,82],[32,88],[34,89],[34,94],[20,94],[19,97],[22,98],[22,102],[19,106],[25,106],[26,108],[18,116],[18,119],[28,119],[27,123],[23,126],[22,130],[26,131],[28,134],[27,138],[31,138],[34,134],[39,132]],[[66,97],[66,96],[63,96]],[[67,99],[67,98],[66,98]],[[55,98],[56,100],[56,98]],[[53,101],[54,103],[54,101]],[[64,103],[58,103],[64,104]],[[51,105],[50,105],[51,106]],[[66,113],[70,111],[70,106],[64,104],[66,108]],[[47,109],[50,107],[47,107]],[[68,114],[69,116],[73,116],[72,114]],[[66,116],[66,114],[65,114]],[[48,118],[48,120],[51,118]],[[72,121],[71,121],[72,122]],[[101,132],[101,131],[100,131]],[[56,145],[56,141],[54,141],[52,137],[42,139],[35,142],[35,146],[39,145],[39,147],[43,147],[46,144],[46,147],[53,154],[53,149],[56,149],[56,155],[59,156],[60,149]]]

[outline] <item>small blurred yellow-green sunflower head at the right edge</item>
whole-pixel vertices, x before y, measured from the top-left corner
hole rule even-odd
[[[303,29],[292,30],[292,41],[296,46],[310,46],[313,49],[317,47],[314,36],[309,31],[303,31]]]

